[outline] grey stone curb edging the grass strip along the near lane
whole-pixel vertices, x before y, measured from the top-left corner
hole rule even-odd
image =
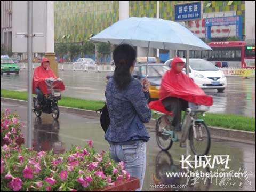
[[[27,105],[27,101],[2,98],[2,97],[1,97],[1,102],[14,103],[22,106]],[[100,119],[100,114],[92,110],[62,107],[62,106],[59,106],[59,108],[61,112],[82,115],[83,117],[90,118],[90,119]],[[155,129],[155,124],[156,124],[155,120],[153,119],[146,124],[146,127],[148,129]],[[221,127],[209,127],[209,128],[210,128],[212,138],[225,139],[225,140],[237,141],[241,143],[255,145],[255,132],[226,129]]]

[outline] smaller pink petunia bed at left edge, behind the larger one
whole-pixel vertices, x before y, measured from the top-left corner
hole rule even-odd
[[[24,143],[24,136],[21,133],[22,124],[17,113],[10,113],[9,109],[1,112],[1,146],[17,142]]]

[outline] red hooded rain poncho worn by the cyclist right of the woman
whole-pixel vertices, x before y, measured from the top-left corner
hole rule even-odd
[[[179,57],[173,59],[171,70],[167,71],[162,78],[159,101],[149,103],[149,107],[166,113],[162,100],[167,97],[177,97],[191,103],[212,106],[212,97],[206,95],[186,74],[178,72],[176,70],[177,63],[184,63],[184,61]]]

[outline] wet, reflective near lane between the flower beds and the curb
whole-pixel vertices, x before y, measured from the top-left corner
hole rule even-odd
[[[21,116],[21,121],[25,124],[27,123],[27,107],[1,102],[1,110],[5,108],[9,108],[11,111],[17,110]],[[109,150],[109,145],[103,139],[103,130],[97,119],[61,113],[59,121],[53,121],[51,115],[43,114],[41,118],[36,118],[33,114],[33,125],[33,146],[36,150],[54,149],[55,153],[61,153],[64,150],[69,150],[71,145],[83,146],[89,139],[93,140],[93,145],[97,152]],[[26,127],[22,131],[27,135]],[[191,151],[190,149],[181,149],[179,148],[179,143],[174,143],[172,148],[165,153],[157,146],[154,130],[148,129],[148,131],[151,138],[147,143],[147,169],[143,191],[158,191],[156,189],[149,190],[149,188],[153,189],[157,185],[158,189],[163,186],[171,187],[170,185],[173,185],[172,187],[181,188],[185,187],[183,185],[186,185],[189,191],[195,191],[196,189],[204,189],[204,191],[212,191],[213,189],[217,191],[220,189],[255,189],[255,145],[212,139],[211,149],[208,154],[229,155],[229,169],[224,172],[232,172],[233,170],[237,172],[245,171],[247,177],[225,180],[220,178],[212,180],[209,178],[197,179],[195,177],[166,178],[166,172],[179,173],[185,171],[181,169],[179,161],[181,155],[192,155]],[[221,169],[223,167],[215,167],[214,169],[199,168],[197,171],[202,171],[203,173],[212,171],[215,173],[221,172]],[[189,171],[196,172],[195,169],[189,169]],[[184,188],[181,191],[184,191]]]

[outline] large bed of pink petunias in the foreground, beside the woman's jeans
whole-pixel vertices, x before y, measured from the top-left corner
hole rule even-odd
[[[92,141],[59,155],[16,143],[1,147],[3,191],[85,191],[113,187],[124,179],[130,179],[124,163],[115,163],[105,151],[96,153]]]

